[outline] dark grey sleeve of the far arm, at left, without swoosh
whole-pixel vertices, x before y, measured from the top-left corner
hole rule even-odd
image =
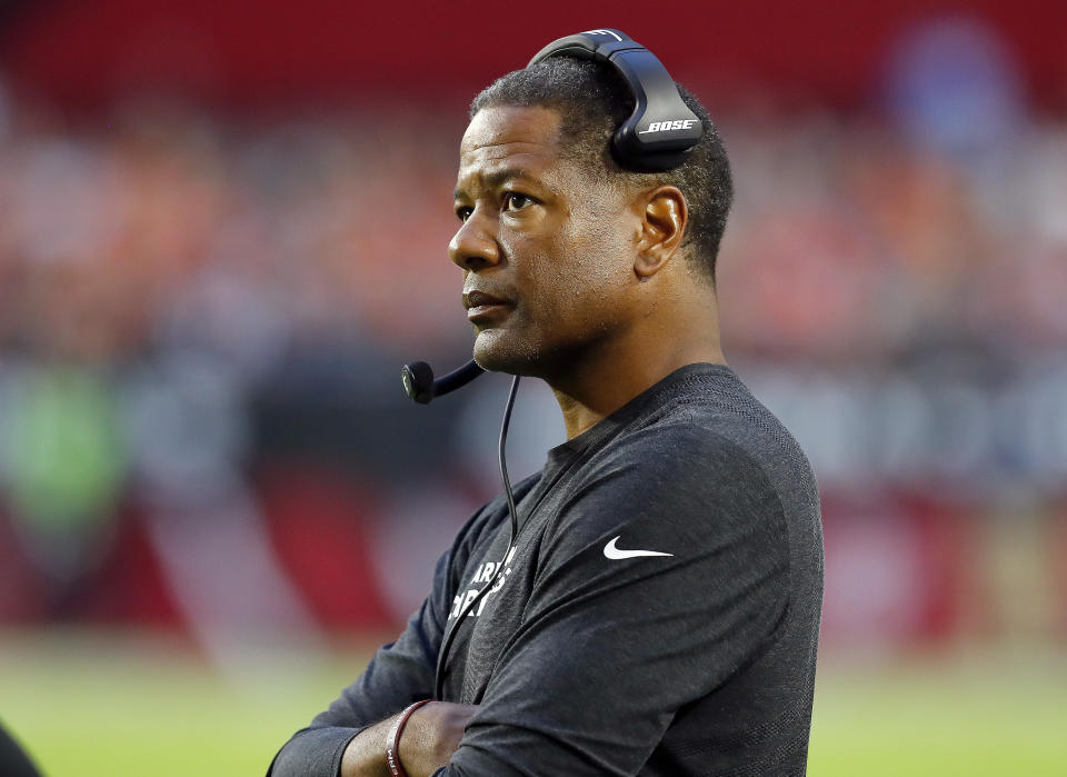
[[[491,507],[491,506],[490,506]],[[433,696],[437,654],[465,559],[489,507],[476,515],[437,562],[433,587],[400,637],[378,649],[363,674],[329,709],[297,731],[275,756],[267,777],[337,777],[348,744],[409,704]]]

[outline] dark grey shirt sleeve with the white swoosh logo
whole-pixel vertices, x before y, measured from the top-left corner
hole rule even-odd
[[[616,446],[538,564],[522,626],[438,777],[635,775],[679,708],[759,657],[788,604],[767,477],[688,427]]]

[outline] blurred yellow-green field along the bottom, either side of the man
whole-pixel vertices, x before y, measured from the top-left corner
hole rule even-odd
[[[262,775],[368,650],[271,651],[222,676],[158,636],[0,632],[0,717],[50,777]],[[824,656],[819,671],[809,775],[1067,775],[1064,656]]]

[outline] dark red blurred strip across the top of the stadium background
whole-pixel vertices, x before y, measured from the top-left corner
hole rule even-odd
[[[885,58],[931,18],[996,30],[1034,94],[1063,106],[1067,8],[1041,0],[574,3],[491,8],[438,2],[218,0],[9,2],[3,60],[63,104],[178,91],[221,106],[309,99],[469,99],[541,41],[609,23],[662,52],[678,80],[856,106]]]

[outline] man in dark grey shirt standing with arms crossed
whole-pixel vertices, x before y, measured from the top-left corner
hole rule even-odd
[[[612,159],[632,98],[602,64],[548,59],[475,99],[449,246],[475,358],[546,380],[568,440],[516,487],[515,550],[497,498],[276,777],[805,771],[818,496],[726,366],[715,260],[732,187],[682,94],[705,135],[664,173]],[[441,700],[410,708],[460,616]]]

